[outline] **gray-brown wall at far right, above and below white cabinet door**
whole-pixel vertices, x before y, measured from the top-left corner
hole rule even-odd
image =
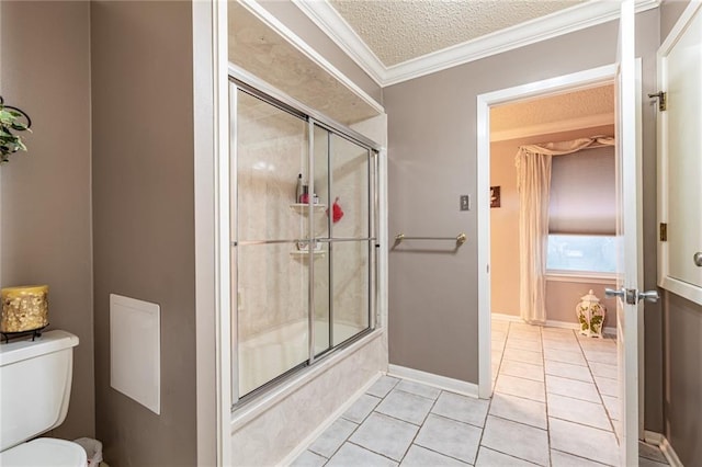
[[[689,1],[660,5],[660,42]],[[664,293],[665,435],[686,466],[702,465],[702,306]]]

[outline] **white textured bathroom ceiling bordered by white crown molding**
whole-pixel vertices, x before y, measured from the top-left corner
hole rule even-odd
[[[328,0],[390,67],[586,0]]]

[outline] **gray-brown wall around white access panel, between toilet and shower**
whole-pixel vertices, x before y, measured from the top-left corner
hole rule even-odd
[[[193,466],[192,4],[92,2],[91,38],[97,434],[113,467]],[[110,387],[111,293],[161,307],[160,415]]]

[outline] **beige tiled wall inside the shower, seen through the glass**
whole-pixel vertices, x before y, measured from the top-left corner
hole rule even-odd
[[[299,118],[239,93],[238,214],[239,240],[278,240],[307,237],[306,209],[291,207],[298,173],[308,183],[307,126]],[[328,193],[326,130],[315,132],[315,192],[319,203],[331,206],[339,198],[343,217],[333,224],[335,237],[367,237],[367,151],[338,136],[331,136],[332,198]],[[325,208],[315,209],[315,235],[327,237]],[[322,243],[328,250],[329,246]],[[367,326],[369,244],[340,242],[333,247],[335,322]],[[249,339],[267,330],[307,317],[309,259],[291,255],[291,243],[239,246],[238,286],[239,338]],[[374,252],[371,250],[371,254]],[[315,315],[328,320],[328,251],[315,258]]]

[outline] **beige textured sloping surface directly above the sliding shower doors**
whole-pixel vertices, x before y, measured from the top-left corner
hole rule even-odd
[[[263,24],[229,2],[229,61],[339,123],[351,125],[378,112]]]

